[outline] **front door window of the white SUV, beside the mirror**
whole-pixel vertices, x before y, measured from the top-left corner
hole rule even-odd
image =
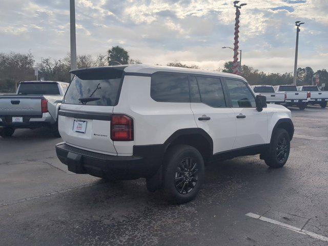
[[[255,98],[240,80],[226,79],[233,108],[255,108]]]

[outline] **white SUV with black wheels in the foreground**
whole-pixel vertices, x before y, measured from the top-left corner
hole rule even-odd
[[[74,173],[146,178],[149,191],[183,203],[209,160],[260,154],[279,168],[288,159],[291,111],[267,106],[240,76],[146,65],[71,72],[56,152]]]

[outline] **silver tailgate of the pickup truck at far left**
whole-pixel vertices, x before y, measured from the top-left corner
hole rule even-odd
[[[40,116],[41,96],[0,96],[2,116]]]

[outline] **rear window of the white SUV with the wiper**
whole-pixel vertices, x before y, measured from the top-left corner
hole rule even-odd
[[[115,106],[119,97],[123,71],[84,71],[74,76],[64,103]]]

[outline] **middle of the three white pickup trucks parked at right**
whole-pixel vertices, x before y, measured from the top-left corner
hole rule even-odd
[[[274,88],[276,92],[286,93],[285,103],[287,106],[296,105],[300,110],[306,108],[311,97],[309,91],[298,91],[297,87],[293,85],[275,86]]]

